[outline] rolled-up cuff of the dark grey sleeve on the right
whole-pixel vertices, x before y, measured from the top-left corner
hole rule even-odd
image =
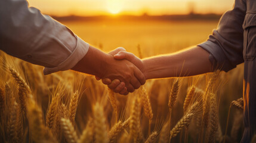
[[[226,60],[224,52],[217,43],[208,40],[198,46],[209,52],[209,60],[211,61],[212,66],[214,66],[214,70],[220,69],[227,72],[235,68],[230,64],[229,60]]]

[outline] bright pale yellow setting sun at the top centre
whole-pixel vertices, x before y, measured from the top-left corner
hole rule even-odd
[[[107,10],[111,14],[118,14],[122,10],[122,0],[107,0]]]

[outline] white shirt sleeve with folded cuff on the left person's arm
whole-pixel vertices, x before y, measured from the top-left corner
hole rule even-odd
[[[87,54],[89,44],[26,0],[0,1],[0,49],[44,66],[44,74],[68,70]]]

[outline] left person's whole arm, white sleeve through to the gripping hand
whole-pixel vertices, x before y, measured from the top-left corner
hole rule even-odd
[[[144,84],[144,75],[127,60],[118,61],[82,41],[71,30],[26,0],[0,1],[0,49],[14,57],[44,66],[44,74],[73,69],[118,79],[129,92]],[[121,72],[122,71],[122,72]],[[123,92],[127,94],[127,92]]]

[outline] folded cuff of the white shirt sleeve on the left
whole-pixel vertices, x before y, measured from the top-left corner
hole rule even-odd
[[[87,51],[89,49],[89,44],[87,42],[84,42],[78,36],[76,36],[76,39],[77,39],[76,48],[69,55],[69,57],[67,57],[66,60],[58,64],[57,67],[45,67],[44,68],[45,75],[55,73],[57,71],[64,71],[64,70],[71,69],[76,65],[76,63],[78,63],[78,61],[80,61],[85,56],[85,54],[87,54]]]

